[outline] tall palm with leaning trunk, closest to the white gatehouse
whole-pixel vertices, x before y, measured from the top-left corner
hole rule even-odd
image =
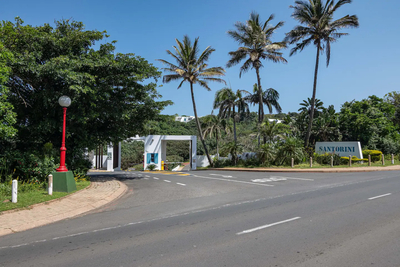
[[[225,70],[222,67],[208,67],[206,62],[209,59],[211,53],[215,51],[215,49],[208,46],[199,55],[198,37],[195,39],[193,44],[187,35],[183,37],[182,42],[178,39],[175,39],[175,41],[177,43],[177,46],[173,46],[173,48],[175,49],[175,53],[172,53],[169,50],[167,50],[167,53],[176,60],[176,65],[166,60],[158,59],[168,66],[167,68],[163,68],[163,70],[171,73],[168,75],[164,75],[163,82],[168,83],[170,81],[182,80],[178,86],[178,89],[182,86],[184,82],[188,82],[190,84],[190,93],[192,96],[193,112],[196,120],[197,131],[200,136],[201,143],[203,144],[204,151],[206,152],[208,161],[210,162],[210,165],[213,166],[213,162],[208,153],[207,146],[204,142],[199,118],[197,117],[193,84],[198,84],[208,91],[211,91],[211,89],[208,87],[208,82],[213,81],[225,83],[223,79],[218,78],[225,75]]]

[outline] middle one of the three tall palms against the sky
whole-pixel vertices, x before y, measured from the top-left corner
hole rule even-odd
[[[229,68],[245,60],[240,68],[239,77],[250,68],[256,71],[260,101],[258,114],[259,124],[261,124],[264,119],[264,107],[262,103],[263,91],[260,77],[260,68],[263,67],[261,60],[287,62],[286,59],[282,57],[282,53],[279,52],[279,50],[286,48],[286,42],[271,41],[272,34],[276,29],[282,27],[284,22],[280,21],[275,26],[271,26],[270,22],[273,19],[274,15],[271,15],[267,21],[261,22],[259,14],[252,12],[250,14],[250,19],[247,20],[246,23],[237,22],[235,24],[236,30],[228,31],[228,34],[242,46],[236,51],[229,52],[231,58],[226,66]]]

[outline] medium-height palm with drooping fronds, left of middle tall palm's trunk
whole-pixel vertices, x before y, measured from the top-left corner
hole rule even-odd
[[[219,109],[220,117],[233,118],[233,139],[237,142],[236,121],[240,118],[240,114],[249,113],[249,105],[243,93],[249,93],[245,90],[237,90],[236,93],[231,88],[222,88],[215,94],[214,109]],[[237,110],[236,110],[237,108]]]

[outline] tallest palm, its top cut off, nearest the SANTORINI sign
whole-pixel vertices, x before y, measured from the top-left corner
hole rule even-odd
[[[305,137],[305,146],[308,146],[312,121],[314,118],[314,104],[317,91],[317,76],[319,55],[326,52],[326,66],[329,66],[331,57],[331,43],[337,41],[340,37],[348,35],[340,33],[343,28],[358,27],[358,18],[356,15],[346,15],[338,20],[333,20],[333,14],[338,8],[344,4],[350,4],[352,0],[339,0],[335,4],[335,0],[308,0],[295,1],[295,6],[290,6],[294,9],[292,17],[305,26],[296,26],[293,30],[286,34],[285,41],[296,46],[290,51],[290,56],[296,52],[302,51],[306,46],[314,44],[317,47],[317,57],[314,72],[314,86],[311,98],[311,114],[308,123],[308,129]]]

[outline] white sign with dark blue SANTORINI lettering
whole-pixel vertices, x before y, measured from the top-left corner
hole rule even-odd
[[[315,153],[318,154],[338,154],[341,157],[356,156],[362,159],[360,142],[317,142]]]

